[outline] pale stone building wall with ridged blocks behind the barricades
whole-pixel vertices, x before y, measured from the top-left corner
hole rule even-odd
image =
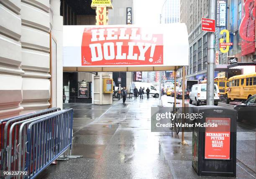
[[[59,7],[59,0],[0,0],[0,119],[62,107]]]

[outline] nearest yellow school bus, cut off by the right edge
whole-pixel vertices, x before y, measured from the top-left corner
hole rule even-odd
[[[256,94],[256,73],[237,75],[229,80],[228,92],[225,94],[225,102],[243,101]]]

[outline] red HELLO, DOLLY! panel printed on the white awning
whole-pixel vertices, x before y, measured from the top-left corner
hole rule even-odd
[[[163,34],[141,28],[84,28],[82,66],[162,65]]]

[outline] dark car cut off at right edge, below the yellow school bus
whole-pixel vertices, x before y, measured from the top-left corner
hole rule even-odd
[[[249,97],[246,102],[235,105],[234,109],[237,110],[237,121],[247,120],[248,122],[256,124],[256,94]]]

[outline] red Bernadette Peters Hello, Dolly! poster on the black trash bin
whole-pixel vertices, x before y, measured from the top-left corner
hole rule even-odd
[[[205,129],[205,159],[230,159],[230,118],[206,117],[218,127]]]

